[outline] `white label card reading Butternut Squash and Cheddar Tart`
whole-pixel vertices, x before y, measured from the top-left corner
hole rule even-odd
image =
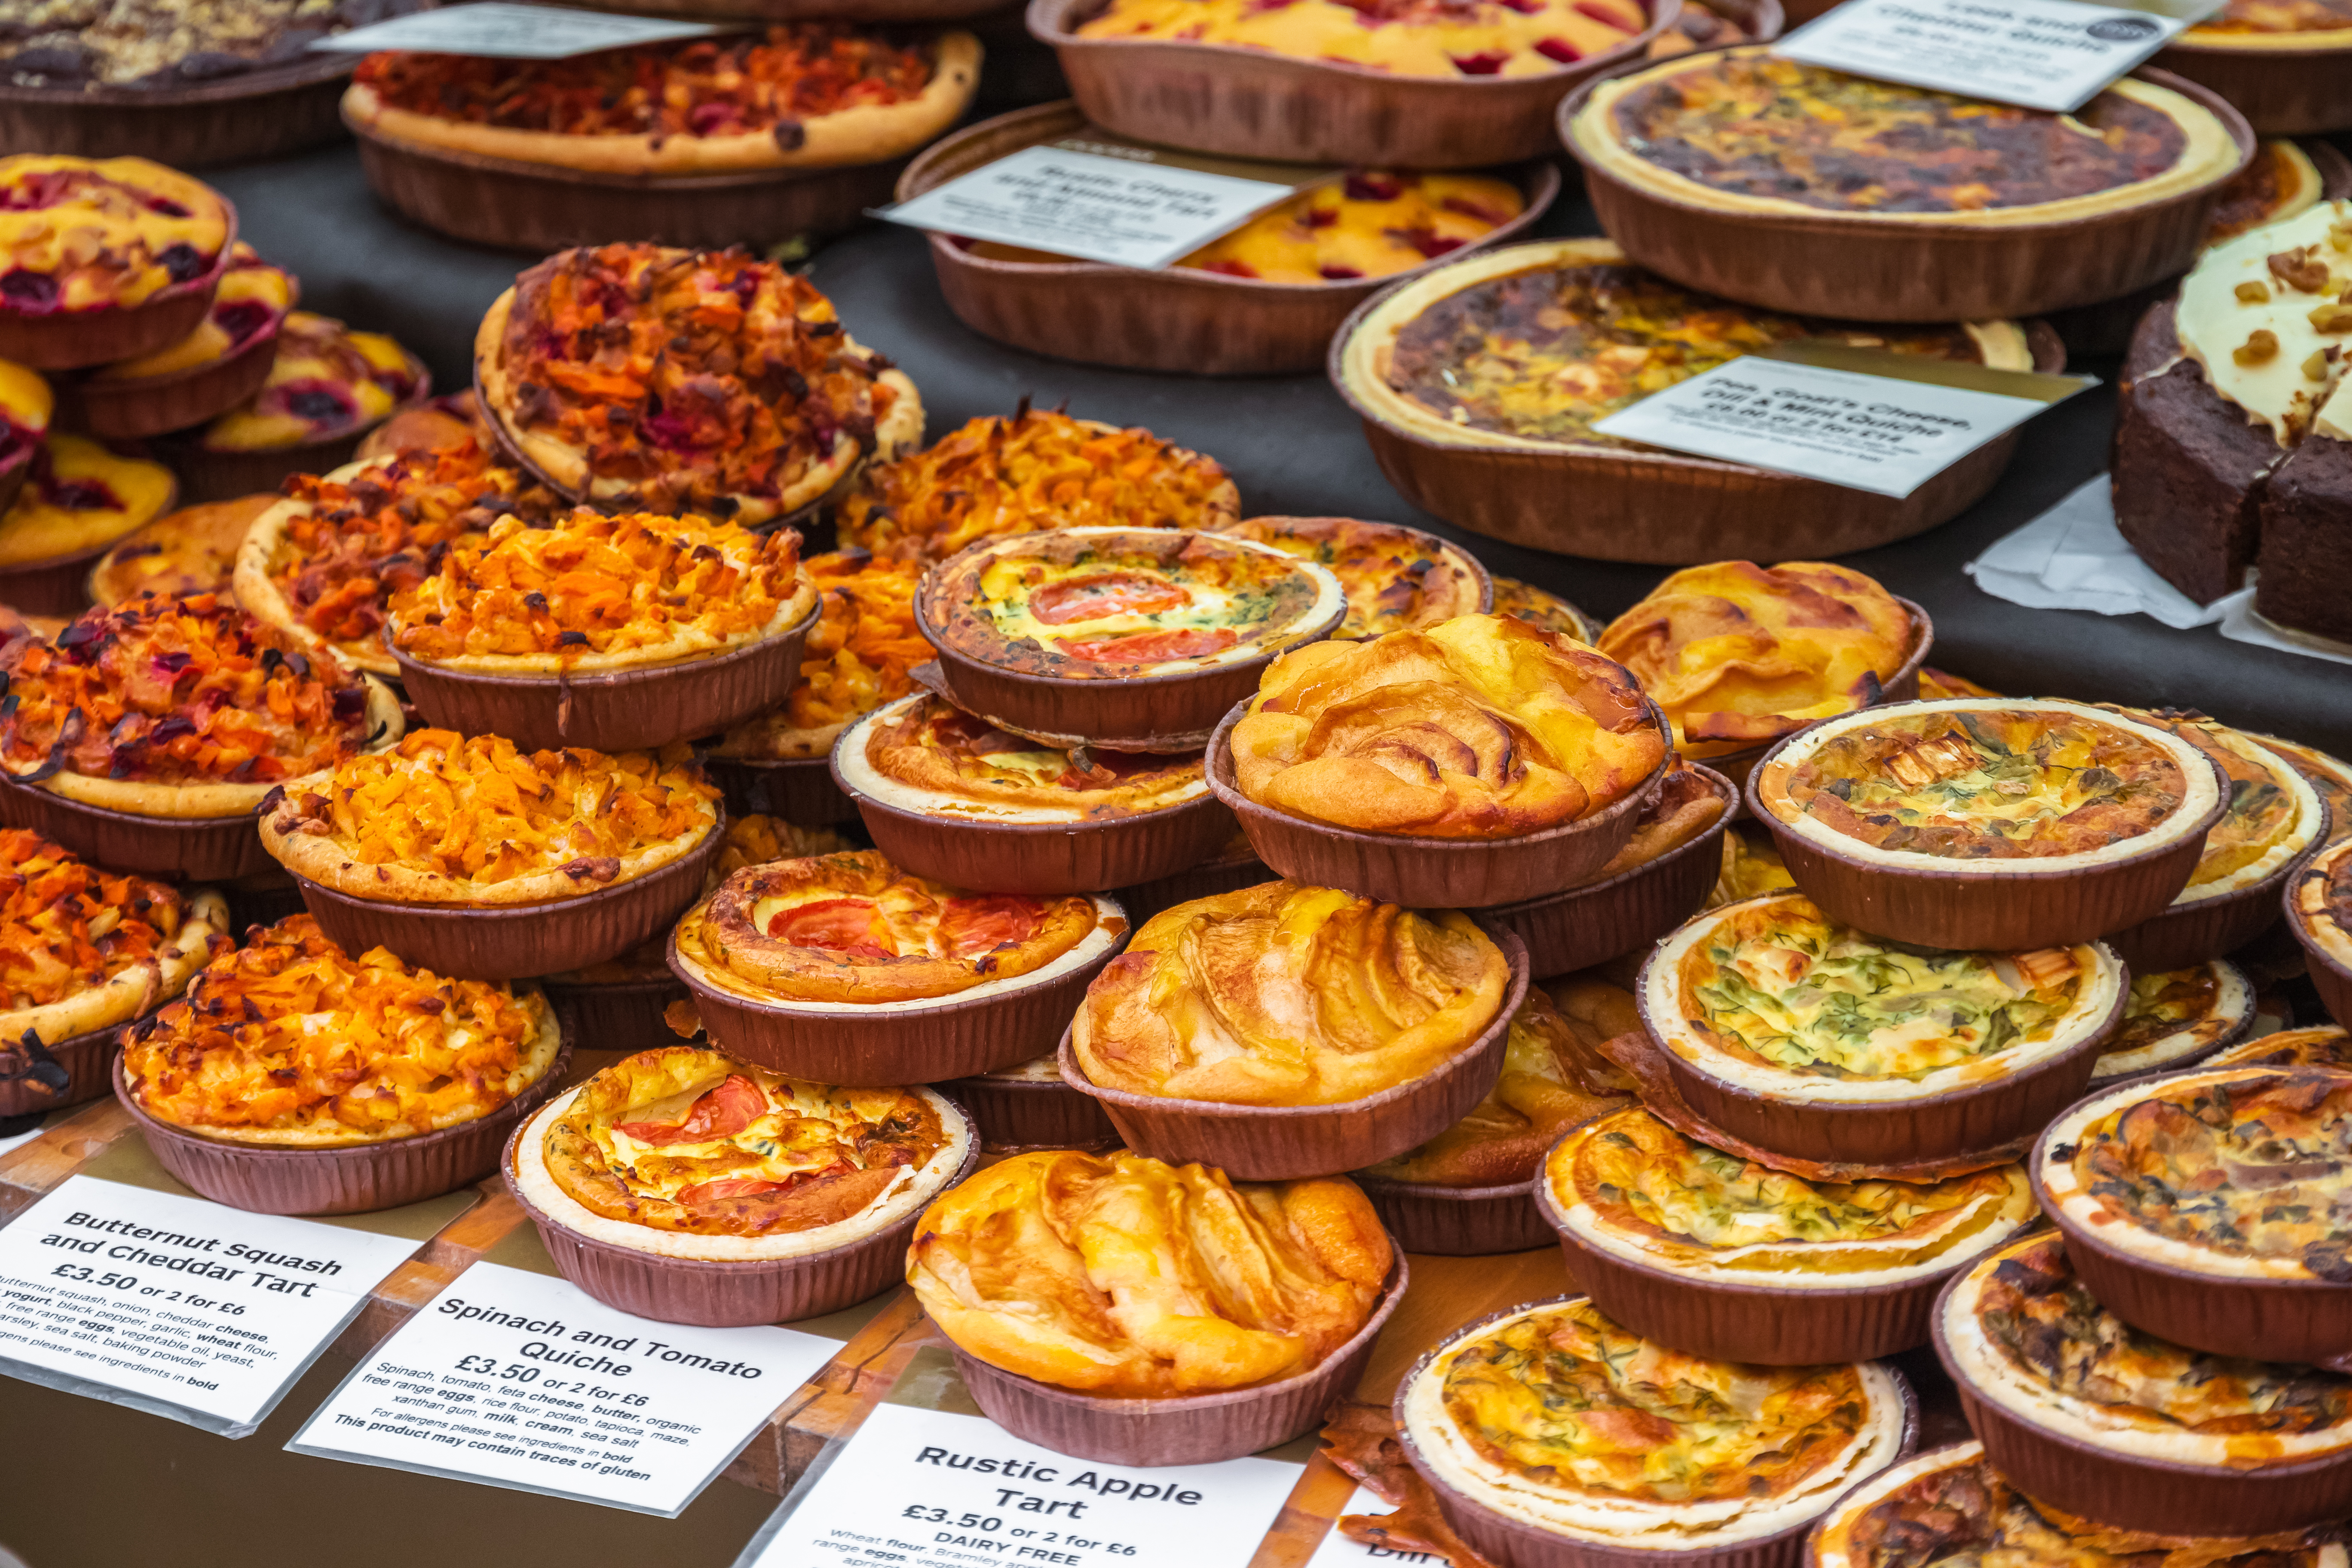
[[[0,1229],[0,1373],[249,1436],[416,1246],[68,1175]]]

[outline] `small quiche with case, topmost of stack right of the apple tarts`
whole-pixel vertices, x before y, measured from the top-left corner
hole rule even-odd
[[[2114,710],[1945,698],[1780,741],[1748,776],[1748,809],[1846,924],[1929,947],[2049,947],[2161,914],[2227,811],[2223,778],[2194,743]]]

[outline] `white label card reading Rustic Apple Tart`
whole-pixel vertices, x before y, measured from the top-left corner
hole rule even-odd
[[[898,1403],[875,1406],[828,1458],[739,1568],[1240,1566],[1298,1486],[1282,1460],[1124,1469]]]

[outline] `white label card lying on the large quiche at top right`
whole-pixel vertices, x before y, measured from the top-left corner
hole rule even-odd
[[[1994,103],[2074,110],[2223,0],[1846,0],[1776,54]]]

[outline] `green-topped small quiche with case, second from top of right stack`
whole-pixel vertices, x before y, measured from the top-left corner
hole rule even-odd
[[[2124,966],[2100,945],[1898,945],[1764,893],[1661,943],[1639,997],[1682,1098],[1733,1138],[1858,1166],[1997,1164],[2082,1093]]]

